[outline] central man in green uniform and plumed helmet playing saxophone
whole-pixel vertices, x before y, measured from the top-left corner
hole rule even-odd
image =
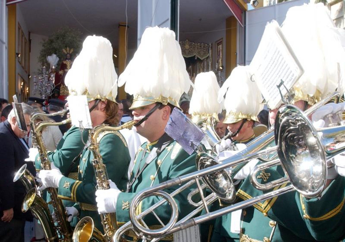
[[[119,77],[119,86],[126,83],[125,91],[134,95],[130,107],[134,120],[138,121],[136,130],[144,136],[145,142],[137,152],[129,184],[125,192],[118,188],[97,190],[96,201],[99,213],[116,212],[119,225],[130,220],[129,206],[133,197],[142,189],[157,185],[166,180],[196,171],[195,153],[191,156],[165,133],[164,129],[174,107],[183,92],[188,92],[191,82],[181,54],[175,33],[167,28],[148,27],[141,43]],[[171,187],[174,191],[177,187]],[[179,216],[193,210],[187,202],[188,193],[184,190],[177,197]],[[157,197],[148,197],[140,202],[137,212],[158,202]],[[168,204],[163,204],[155,212],[163,222],[170,219]],[[145,223],[152,227],[160,225],[154,216],[145,217]],[[136,241],[135,234],[129,234],[130,241]],[[167,236],[163,240],[172,240]]]

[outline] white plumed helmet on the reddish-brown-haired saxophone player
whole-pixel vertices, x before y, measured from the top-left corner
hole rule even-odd
[[[70,95],[87,95],[93,99],[115,102],[117,74],[110,41],[102,36],[88,36],[80,54],[65,77]]]

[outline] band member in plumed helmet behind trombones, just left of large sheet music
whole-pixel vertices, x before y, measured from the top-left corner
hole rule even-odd
[[[256,83],[250,80],[251,75],[249,66],[237,66],[219,91],[220,98],[226,94],[226,116],[223,123],[228,124],[228,130],[232,133],[231,140],[221,143],[220,157],[231,141],[245,144],[255,138],[253,122],[262,110],[260,104],[262,97]],[[218,101],[221,100],[218,99]],[[255,164],[254,160],[254,164],[251,165]],[[216,218],[211,241],[239,241],[239,232],[237,233],[233,228],[230,229],[230,226],[235,224],[232,222],[234,218],[239,222],[238,214],[234,212]]]

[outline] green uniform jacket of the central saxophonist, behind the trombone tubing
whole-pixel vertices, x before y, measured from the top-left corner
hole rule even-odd
[[[133,183],[130,186],[129,192],[120,193],[117,199],[116,217],[119,225],[123,225],[124,223],[130,221],[128,209],[133,197],[137,194],[137,192],[197,170],[195,165],[196,154],[193,153],[193,155],[188,155],[188,153],[184,151],[175,140],[171,140],[170,137],[167,137],[167,134],[164,134],[160,138],[160,140],[167,140],[165,143],[163,143],[163,146],[160,144],[162,141],[158,140],[150,144],[144,143],[139,148],[134,160],[131,178],[129,179],[129,181],[132,181]],[[156,155],[155,147],[159,148],[161,151],[158,157]],[[142,167],[144,167],[146,162],[148,162],[147,157],[149,156],[151,150],[153,150],[152,152],[154,153],[154,158],[150,158],[152,159],[151,162],[146,165],[145,169],[142,170]],[[152,157],[152,155],[150,157]],[[138,171],[140,172],[140,170],[142,170],[142,172],[139,176],[137,176]],[[170,187],[166,190],[166,192],[170,194],[178,187],[179,186]],[[196,187],[194,186],[189,187],[174,197],[179,209],[179,219],[194,210],[194,207],[191,206],[187,201],[187,195],[195,188]],[[159,198],[154,196],[144,199],[144,201],[140,202],[139,206],[137,207],[137,214],[145,211],[159,200]],[[167,203],[157,208],[155,212],[165,224],[169,221],[171,209]],[[159,224],[153,215],[146,216],[145,223],[156,229],[158,228]],[[134,234],[129,234],[129,236],[133,237],[133,240],[137,239],[135,238]],[[164,240],[172,240],[172,236],[167,236],[164,238]]]

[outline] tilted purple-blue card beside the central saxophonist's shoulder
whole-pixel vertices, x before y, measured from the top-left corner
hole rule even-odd
[[[205,137],[205,133],[177,108],[172,110],[164,131],[175,139],[189,155]]]

